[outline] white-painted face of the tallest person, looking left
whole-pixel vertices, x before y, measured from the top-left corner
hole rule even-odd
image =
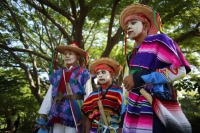
[[[136,39],[143,30],[143,24],[139,20],[130,20],[126,24],[127,34],[129,38]]]

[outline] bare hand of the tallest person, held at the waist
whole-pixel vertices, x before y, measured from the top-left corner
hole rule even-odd
[[[127,89],[127,91],[130,91],[135,86],[133,76],[132,75],[126,76],[123,80],[123,84],[124,87]]]

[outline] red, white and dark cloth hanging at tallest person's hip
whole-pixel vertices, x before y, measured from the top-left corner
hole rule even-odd
[[[153,109],[169,133],[192,133],[191,125],[178,102],[153,97]]]

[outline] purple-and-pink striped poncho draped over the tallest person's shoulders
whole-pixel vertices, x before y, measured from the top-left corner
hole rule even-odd
[[[129,66],[153,70],[185,66],[187,73],[190,71],[190,66],[176,42],[165,34],[146,37],[141,43],[137,55],[130,60]]]

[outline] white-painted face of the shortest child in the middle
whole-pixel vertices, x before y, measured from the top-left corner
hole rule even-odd
[[[110,72],[108,70],[99,69],[97,71],[97,80],[100,84],[105,84],[111,79]]]

